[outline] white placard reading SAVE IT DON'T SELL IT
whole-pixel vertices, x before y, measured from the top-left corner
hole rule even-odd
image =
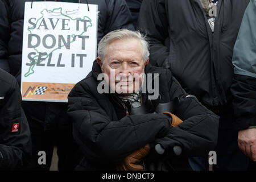
[[[25,3],[22,100],[67,102],[97,56],[97,12],[86,3]]]

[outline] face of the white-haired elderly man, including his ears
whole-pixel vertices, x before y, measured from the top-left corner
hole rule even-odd
[[[137,39],[114,39],[106,47],[105,59],[97,62],[106,73],[112,90],[119,94],[134,93],[142,83],[142,73],[148,63],[142,58],[142,44]]]

